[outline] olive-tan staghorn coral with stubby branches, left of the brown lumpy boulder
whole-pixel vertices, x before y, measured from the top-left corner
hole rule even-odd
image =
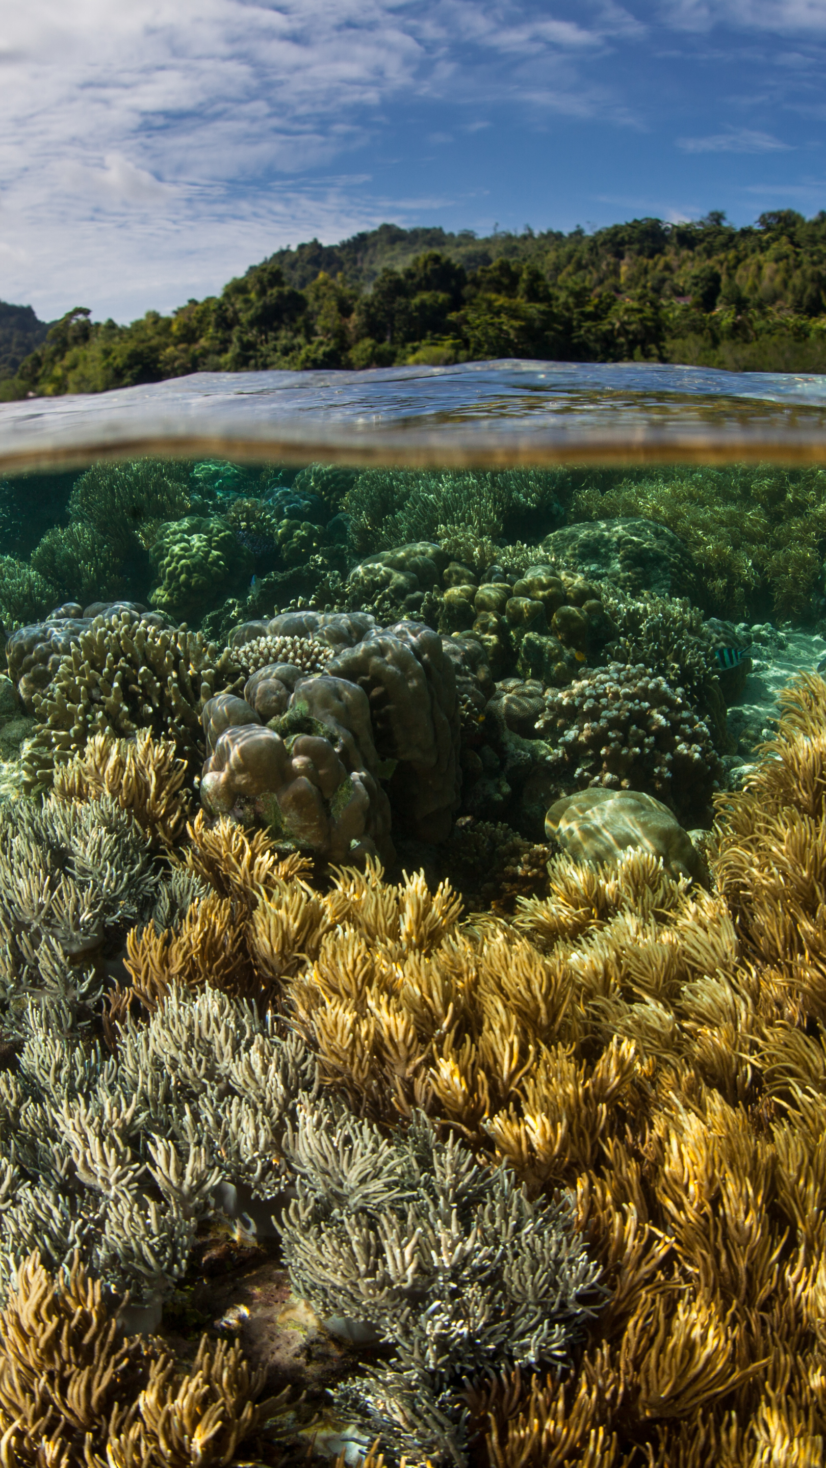
[[[229,655],[218,656],[200,633],[135,624],[128,612],[94,617],[34,693],[38,722],[24,759],[29,788],[47,787],[56,763],[106,730],[129,737],[148,728],[172,740],[191,768],[203,759],[201,709],[237,675]]]

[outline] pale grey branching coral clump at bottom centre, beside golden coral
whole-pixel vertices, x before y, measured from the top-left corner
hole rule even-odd
[[[394,1348],[342,1403],[410,1462],[466,1462],[462,1378],[503,1358],[566,1359],[600,1302],[570,1196],[531,1202],[509,1169],[481,1167],[420,1114],[388,1141],[341,1108],[300,1105],[287,1151],[292,1287]]]

